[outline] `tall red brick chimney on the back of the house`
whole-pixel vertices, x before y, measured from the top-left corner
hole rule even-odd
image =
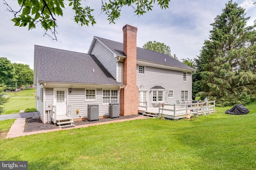
[[[137,28],[131,25],[123,27],[124,33],[124,87],[121,88],[121,115],[138,114],[138,87],[136,86]]]

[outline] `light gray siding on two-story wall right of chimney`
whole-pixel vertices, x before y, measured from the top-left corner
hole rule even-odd
[[[137,64],[138,69],[138,64]],[[181,100],[181,91],[188,91],[188,100],[192,100],[192,74],[186,72],[186,82],[183,82],[183,72],[175,70],[167,70],[164,68],[156,68],[146,66],[146,74],[138,74],[136,84],[139,90],[150,91],[154,86],[162,86],[164,88],[163,101],[168,104],[176,104],[176,100]],[[142,86],[141,86],[142,85]],[[173,98],[169,98],[169,91],[173,91]],[[148,107],[156,107],[153,102],[153,89],[148,93]]]

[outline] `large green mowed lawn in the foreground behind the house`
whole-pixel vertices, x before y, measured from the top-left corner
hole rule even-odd
[[[256,107],[196,119],[141,119],[0,141],[1,160],[28,169],[256,169]]]

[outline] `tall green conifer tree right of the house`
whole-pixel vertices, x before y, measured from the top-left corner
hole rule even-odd
[[[198,96],[215,99],[222,106],[246,104],[255,99],[256,25],[232,0],[212,23],[209,40],[198,56]]]

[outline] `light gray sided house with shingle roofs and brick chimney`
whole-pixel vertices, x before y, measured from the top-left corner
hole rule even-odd
[[[98,105],[102,117],[118,103],[123,116],[138,114],[139,105],[192,100],[193,68],[137,47],[136,27],[125,25],[123,33],[123,43],[94,37],[88,54],[35,45],[36,109],[43,123],[88,118],[88,105]]]

